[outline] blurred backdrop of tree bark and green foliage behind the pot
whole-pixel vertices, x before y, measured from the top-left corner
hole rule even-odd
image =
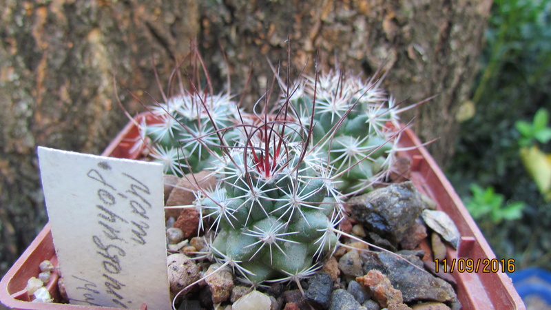
[[[317,51],[320,70],[382,68],[404,105],[438,94],[402,119],[438,138],[496,256],[551,270],[550,14],[543,0],[0,0],[0,276],[47,222],[37,145],[101,153],[127,122],[118,101],[160,100],[195,48],[245,105],[269,61],[313,74]]]

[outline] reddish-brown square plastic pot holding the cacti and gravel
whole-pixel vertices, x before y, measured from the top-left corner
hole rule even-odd
[[[150,116],[139,114],[135,119],[139,123],[143,117]],[[137,138],[138,128],[134,123],[129,123],[102,155],[138,158],[140,151],[132,150]],[[408,149],[400,152],[399,156],[410,159],[410,179],[417,189],[432,198],[437,203],[437,209],[445,211],[453,219],[461,233],[462,237],[457,251],[447,247],[448,265],[454,260],[455,262],[460,260],[465,262],[472,259],[475,263],[486,259],[490,262],[495,261],[495,254],[482,236],[475,221],[472,220],[444,173],[422,146],[417,136],[411,130],[404,130],[399,138],[399,147]],[[48,224],[1,280],[0,302],[14,309],[112,309],[30,302],[24,288],[29,278],[39,274],[39,263],[43,260],[50,260],[54,265],[57,262]],[[459,272],[456,267],[451,275],[457,282],[457,296],[464,309],[526,309],[507,273],[501,272],[501,267],[498,272],[492,272],[490,269],[488,273],[481,272],[481,270],[478,273]],[[57,274],[53,273],[52,279],[47,285],[54,300],[60,300],[56,285],[57,279]],[[143,304],[141,309],[147,309],[147,305]]]

